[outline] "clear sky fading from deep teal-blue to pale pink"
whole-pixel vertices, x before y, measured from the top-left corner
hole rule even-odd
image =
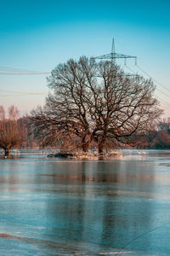
[[[80,55],[136,55],[138,65],[161,84],[156,96],[170,116],[169,0],[0,0],[0,67],[50,72]],[[117,61],[127,72],[123,61]],[[133,60],[127,66],[141,73]],[[3,73],[3,69],[0,73]],[[42,105],[47,75],[0,74],[0,105],[20,113]],[[164,87],[166,88],[164,88]],[[40,94],[40,95],[38,95]]]

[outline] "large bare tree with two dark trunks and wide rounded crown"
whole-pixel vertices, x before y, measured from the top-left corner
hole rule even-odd
[[[92,141],[100,154],[108,143],[129,143],[149,131],[162,113],[152,81],[129,77],[111,61],[81,57],[59,64],[48,86],[52,93],[44,107],[32,112],[34,130],[44,137],[53,137],[54,130],[74,135],[83,151]]]

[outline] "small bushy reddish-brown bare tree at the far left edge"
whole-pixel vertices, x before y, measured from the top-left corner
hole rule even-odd
[[[16,107],[8,108],[6,117],[3,106],[0,106],[0,148],[4,149],[5,156],[10,155],[12,148],[20,143],[22,131],[18,118],[19,111]]]

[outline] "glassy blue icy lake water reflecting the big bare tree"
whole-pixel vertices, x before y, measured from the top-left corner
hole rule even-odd
[[[0,255],[170,255],[170,151],[0,160]]]

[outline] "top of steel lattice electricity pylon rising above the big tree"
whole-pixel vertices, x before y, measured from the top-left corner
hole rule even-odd
[[[97,57],[92,57],[91,59],[100,59],[100,60],[111,60],[114,65],[116,65],[116,59],[124,59],[125,65],[126,65],[126,60],[132,58],[135,60],[135,65],[137,64],[137,57],[133,55],[122,55],[122,54],[117,54],[115,51],[115,42],[114,38],[112,40],[112,46],[111,46],[111,53],[107,55],[99,55]]]

